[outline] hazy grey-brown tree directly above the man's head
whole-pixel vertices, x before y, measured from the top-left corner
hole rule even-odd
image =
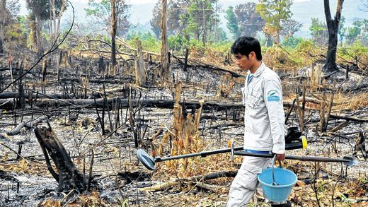
[[[255,11],[256,4],[247,2],[235,6],[236,19],[241,35],[255,37],[265,26],[265,20],[260,17],[260,13]]]

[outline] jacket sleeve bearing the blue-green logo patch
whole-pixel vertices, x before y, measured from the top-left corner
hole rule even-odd
[[[265,81],[264,85],[265,105],[268,110],[272,134],[272,153],[285,152],[284,138],[284,106],[282,104],[281,81],[278,76]]]

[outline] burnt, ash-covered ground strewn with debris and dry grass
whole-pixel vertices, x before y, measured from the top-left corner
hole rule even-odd
[[[67,71],[62,74],[66,78],[80,78],[86,68],[91,71],[89,78],[95,79],[119,79],[124,83],[104,83],[105,90],[120,88],[121,90],[108,93],[108,97],[127,97],[131,95],[135,99],[160,99],[172,100],[175,89],[173,86],[168,88],[159,88],[152,83],[147,83],[146,88],[137,88],[130,86],[134,84],[134,76],[132,72],[125,71],[125,75],[101,76],[98,74],[95,64],[85,65],[84,61],[77,61]],[[76,68],[80,67],[78,71]],[[83,69],[84,68],[84,69]],[[150,69],[154,67],[151,66]],[[284,87],[284,100],[292,100],[296,92],[301,95],[301,88],[304,83],[308,84],[306,76],[306,68],[300,69],[299,76],[301,78],[291,78],[292,72],[287,70],[277,71],[282,77]],[[9,83],[8,71],[1,72],[1,77],[4,85]],[[173,66],[173,76],[176,81],[183,83],[183,92],[181,100],[205,100],[219,103],[235,103],[240,104],[241,93],[240,87],[243,85],[243,78],[232,78],[222,71],[214,71],[201,67],[191,67],[185,72],[181,66]],[[151,72],[149,71],[149,74]],[[54,79],[54,73],[50,73],[51,79]],[[128,77],[128,78],[126,78]],[[62,81],[59,83],[47,84],[40,88],[40,78],[32,76],[25,82],[25,93],[28,91],[42,91],[47,95],[68,95],[71,100],[78,99],[83,95],[84,87],[78,88],[79,83]],[[326,95],[335,93],[338,86],[345,80],[345,72],[343,70],[332,74],[328,77],[326,85],[319,89],[306,87],[306,95],[309,97],[321,98],[323,91]],[[233,86],[229,83],[234,83]],[[367,76],[360,73],[350,73],[350,78],[341,86],[343,89],[340,92],[336,101],[338,105],[333,107],[333,114],[343,114],[347,117],[356,117],[360,119],[368,119],[367,110],[367,92],[354,90],[360,83],[367,83]],[[92,90],[103,91],[101,83],[89,83],[87,96],[93,97]],[[219,92],[220,85],[228,91],[221,94]],[[130,93],[129,91],[132,91]],[[349,90],[353,90],[350,92]],[[11,91],[11,89],[8,89]],[[226,97],[224,97],[226,96]],[[328,96],[329,97],[329,96]],[[327,99],[329,100],[329,99]],[[292,102],[292,101],[291,101]],[[310,105],[314,110],[306,110],[306,131],[305,134],[309,140],[309,147],[306,150],[293,150],[287,152],[295,155],[324,155],[330,157],[342,157],[343,155],[352,155],[355,150],[356,140],[360,133],[363,132],[367,136],[367,122],[350,121],[347,126],[343,127],[335,134],[320,133],[316,128],[320,119],[320,109],[315,106],[316,103]],[[137,107],[134,108],[137,110]],[[284,108],[285,113],[288,107]],[[33,112],[33,113],[32,113]],[[107,112],[106,112],[107,113]],[[190,110],[188,110],[190,113]],[[120,110],[120,120],[118,125],[121,125],[113,136],[103,140],[101,135],[101,126],[98,122],[96,109],[84,107],[47,107],[47,108],[31,108],[27,105],[24,110],[2,110],[0,116],[0,206],[36,206],[38,203],[47,199],[57,199],[64,205],[76,201],[78,194],[58,194],[55,192],[57,182],[47,171],[45,158],[42,154],[40,144],[35,138],[33,128],[23,128],[20,134],[8,136],[6,132],[11,131],[20,122],[34,119],[42,115],[47,115],[47,122],[50,123],[52,129],[56,132],[60,141],[69,152],[75,165],[88,175],[88,167],[91,161],[91,147],[94,150],[93,175],[98,183],[99,196],[103,199],[105,206],[226,206],[227,194],[232,178],[210,180],[207,183],[220,187],[217,191],[208,190],[202,187],[195,187],[194,184],[176,185],[160,191],[140,191],[140,188],[149,187],[159,182],[168,182],[175,178],[165,170],[165,167],[158,172],[150,172],[143,165],[140,165],[135,157],[134,133],[129,122],[129,112],[127,109]],[[204,110],[200,122],[200,137],[205,144],[202,150],[210,150],[214,148],[225,148],[228,141],[233,138],[236,141],[236,146],[241,146],[243,142],[243,110]],[[115,123],[116,114],[113,110],[110,111],[110,119]],[[159,129],[164,131],[170,129],[173,125],[173,110],[160,109],[154,107],[143,107],[136,113],[135,117],[136,130],[139,131],[139,148],[146,148],[151,152],[149,147],[149,138],[152,138]],[[109,118],[105,114],[105,129],[110,132]],[[330,119],[328,130],[345,122],[345,119]],[[298,126],[299,117],[295,110],[289,117],[287,126]],[[45,122],[37,124],[38,126],[46,126]],[[115,125],[115,124],[114,124]],[[109,133],[107,133],[109,134]],[[153,142],[155,148],[159,146],[163,134],[160,134]],[[102,141],[103,140],[103,141]],[[102,143],[99,143],[102,141]],[[99,143],[96,146],[96,143]],[[367,143],[367,141],[364,141]],[[18,146],[22,146],[21,156],[16,160],[16,153],[9,148],[18,151]],[[168,151],[165,152],[168,154]],[[357,166],[349,167],[345,171],[345,167],[341,167],[337,163],[326,163],[317,165],[314,162],[297,162],[286,161],[285,166],[297,173],[299,179],[307,179],[318,177],[318,181],[323,182],[323,177],[328,176],[322,188],[328,191],[328,185],[338,186],[334,196],[335,204],[341,206],[349,206],[352,203],[364,202],[367,199],[367,192],[357,194],[349,192],[345,189],[349,187],[357,187],[364,189],[367,183],[359,183],[359,180],[367,180],[368,162],[364,159],[366,152],[358,151],[357,156],[360,158],[360,163]],[[224,155],[226,157],[227,155]],[[221,164],[211,160],[204,162],[201,165],[222,165],[219,167],[222,170],[236,170],[241,158],[236,158],[235,165],[231,164],[230,160],[222,158]],[[224,163],[226,163],[224,165]],[[316,171],[316,167],[323,170]],[[83,170],[83,169],[86,170]],[[343,172],[341,172],[343,170]],[[192,169],[196,171],[196,169]],[[193,172],[193,173],[194,173]],[[209,173],[208,171],[206,171]],[[317,182],[318,185],[321,183]],[[315,186],[316,187],[316,186]],[[299,187],[294,187],[294,192],[291,195],[294,206],[314,206],[316,205],[316,196],[313,191],[313,184],[300,184]],[[321,191],[321,203],[331,203],[331,195],[325,196],[326,191]],[[353,196],[355,194],[355,196]],[[64,198],[64,196],[66,196]],[[64,199],[63,199],[64,198]],[[366,200],[365,200],[366,201]],[[261,197],[255,198],[253,206],[268,206],[264,203]]]

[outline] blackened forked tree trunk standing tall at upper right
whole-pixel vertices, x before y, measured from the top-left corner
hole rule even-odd
[[[340,24],[341,11],[343,10],[344,0],[338,0],[335,18],[331,17],[330,1],[324,0],[325,16],[328,28],[328,49],[325,69],[327,71],[335,71],[336,67],[336,52],[338,49],[338,26]]]

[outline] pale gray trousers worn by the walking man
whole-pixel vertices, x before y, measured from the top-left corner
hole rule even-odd
[[[251,201],[259,187],[257,176],[263,169],[271,166],[271,160],[247,156],[243,158],[243,163],[230,187],[227,207],[246,206]]]

